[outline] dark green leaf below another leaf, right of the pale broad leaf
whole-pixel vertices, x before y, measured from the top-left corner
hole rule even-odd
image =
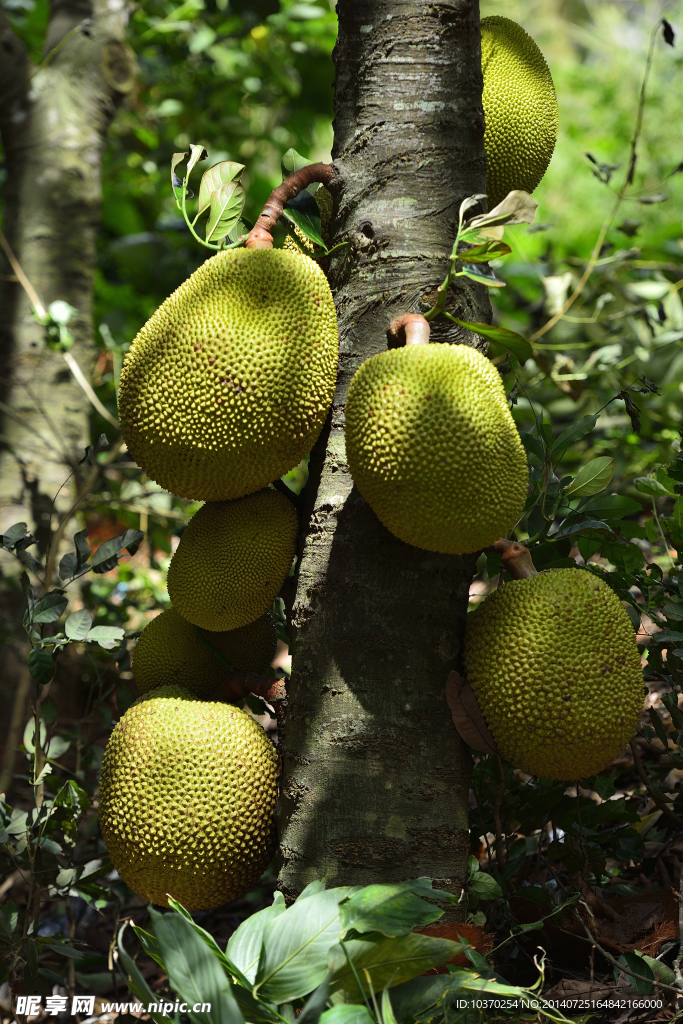
[[[362,998],[349,959],[355,968],[355,974],[361,979],[365,979],[364,971],[370,973],[373,989],[377,992],[385,985],[399,985],[432,967],[445,964],[462,952],[463,948],[461,942],[434,939],[415,932],[398,938],[387,938],[375,932],[349,939],[330,949],[328,959],[333,972],[330,991],[343,995],[346,1001]]]

